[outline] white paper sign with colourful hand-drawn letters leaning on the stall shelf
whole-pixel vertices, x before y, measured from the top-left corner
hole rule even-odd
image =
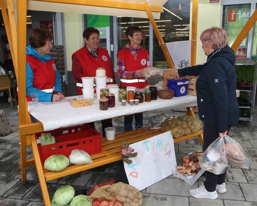
[[[170,175],[177,165],[171,131],[129,145],[137,157],[124,162],[130,185],[142,190]]]

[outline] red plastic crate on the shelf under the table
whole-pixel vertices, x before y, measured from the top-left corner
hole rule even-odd
[[[101,152],[101,134],[88,124],[36,133],[36,139],[41,133],[51,133],[56,140],[54,144],[37,144],[42,164],[52,155],[65,155],[69,158],[73,149],[82,149],[89,155]]]

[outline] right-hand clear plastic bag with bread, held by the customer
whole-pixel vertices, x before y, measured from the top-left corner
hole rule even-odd
[[[228,164],[232,167],[249,168],[248,159],[241,145],[226,135],[224,138]]]

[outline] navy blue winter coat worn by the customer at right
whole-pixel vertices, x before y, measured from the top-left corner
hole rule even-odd
[[[216,124],[220,133],[239,121],[236,98],[235,54],[229,46],[211,53],[203,65],[179,69],[179,76],[198,76],[196,81],[199,118]]]

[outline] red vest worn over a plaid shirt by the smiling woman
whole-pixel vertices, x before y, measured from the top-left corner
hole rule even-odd
[[[131,54],[128,48],[123,48],[118,52],[118,56],[122,59],[127,72],[134,72],[147,67],[148,52],[146,49],[141,48],[137,54],[137,59]],[[143,89],[148,82],[146,79],[121,79],[121,86],[135,86],[136,88]]]

